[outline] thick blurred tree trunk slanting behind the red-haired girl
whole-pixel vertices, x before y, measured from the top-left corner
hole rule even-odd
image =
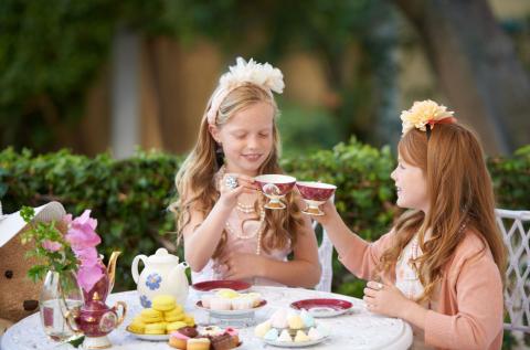
[[[486,152],[530,144],[530,79],[485,0],[394,0],[416,28],[455,116]]]

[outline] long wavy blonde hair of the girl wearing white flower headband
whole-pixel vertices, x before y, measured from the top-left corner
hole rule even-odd
[[[219,87],[218,87],[219,89]],[[215,92],[212,96],[215,95]],[[219,190],[214,180],[221,165],[216,160],[218,145],[209,131],[205,114],[210,109],[212,97],[204,112],[195,147],[182,163],[176,177],[179,199],[171,205],[177,216],[178,243],[182,238],[182,230],[190,223],[191,210],[199,211],[204,218],[210,213],[219,199]],[[278,107],[271,93],[259,86],[246,83],[231,91],[220,104],[215,116],[215,126],[222,127],[230,118],[257,103],[267,103],[274,108],[273,120],[273,149],[267,159],[258,169],[258,173],[282,173],[278,165],[280,155],[279,134],[276,125]],[[256,205],[263,204],[265,199],[259,195]],[[300,210],[293,193],[286,195],[288,202],[286,210],[266,211],[265,227],[262,237],[262,247],[265,252],[274,248],[284,248],[289,243],[296,244],[297,232],[304,225]],[[257,208],[256,208],[257,209]],[[258,212],[256,210],[256,212]],[[194,227],[195,229],[195,227]],[[214,253],[216,257],[226,243],[226,231],[223,230],[221,241]]]

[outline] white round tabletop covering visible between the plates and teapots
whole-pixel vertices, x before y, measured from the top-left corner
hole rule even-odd
[[[412,344],[412,330],[405,321],[373,315],[367,311],[364,303],[360,299],[301,288],[253,287],[252,289],[261,293],[267,300],[267,305],[256,311],[255,322],[264,321],[277,308],[288,307],[290,303],[300,299],[340,298],[353,304],[353,308],[346,315],[317,319],[317,322],[321,322],[330,329],[331,335],[326,341],[304,349],[400,350],[409,349]],[[186,310],[195,317],[198,324],[209,324],[210,319],[208,314],[194,307],[198,298],[199,296],[190,288]],[[125,327],[131,321],[132,317],[141,310],[136,291],[113,294],[108,297],[107,304],[113,306],[117,300],[126,301],[128,311],[124,324],[108,336],[114,344],[112,349],[173,349],[166,341],[140,340],[125,330]],[[237,350],[280,349],[267,346],[261,339],[256,338],[254,336],[254,326],[241,328],[240,338],[243,344],[237,348]],[[34,314],[8,329],[2,338],[1,349],[70,350],[74,349],[74,347],[70,344],[57,344],[49,340],[42,330],[39,314]]]

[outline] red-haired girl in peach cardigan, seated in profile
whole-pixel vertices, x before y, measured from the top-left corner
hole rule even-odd
[[[398,205],[410,211],[371,244],[331,203],[315,219],[344,266],[370,280],[367,308],[412,324],[414,349],[500,349],[506,253],[480,145],[432,100],[415,103],[401,118],[391,178]]]

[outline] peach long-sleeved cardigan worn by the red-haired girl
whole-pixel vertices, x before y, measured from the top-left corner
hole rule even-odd
[[[358,238],[339,259],[356,276],[372,279],[394,232],[371,244]],[[395,275],[391,276],[395,280]],[[502,280],[485,241],[468,230],[447,264],[435,296],[436,310],[425,318],[425,344],[437,349],[500,349]]]

